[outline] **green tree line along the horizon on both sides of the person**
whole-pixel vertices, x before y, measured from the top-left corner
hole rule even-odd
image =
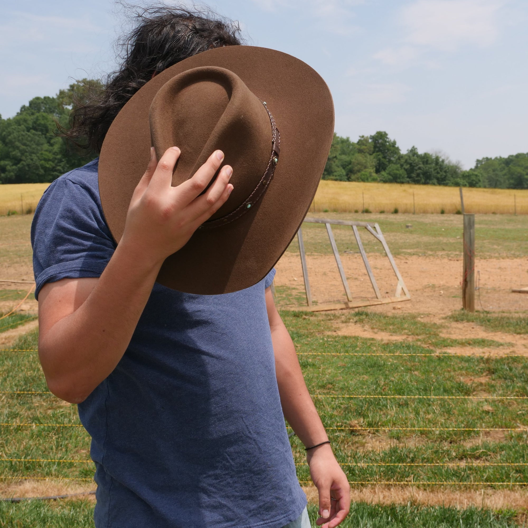
[[[51,182],[91,161],[85,152],[60,137],[72,109],[82,104],[99,81],[83,79],[55,97],[35,97],[16,116],[0,116],[0,184]],[[464,171],[441,153],[402,153],[386,132],[360,136],[357,142],[334,134],[324,180],[417,183],[465,187],[528,188],[528,153],[477,159]]]

